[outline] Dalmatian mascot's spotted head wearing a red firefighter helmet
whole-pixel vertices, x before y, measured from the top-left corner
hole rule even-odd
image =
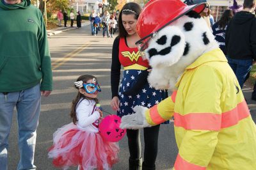
[[[177,78],[196,58],[218,48],[211,30],[200,17],[205,5],[188,6],[180,0],[152,0],[145,5],[136,26],[141,38],[136,45],[152,70],[170,67],[166,70],[172,70],[172,75],[168,76]],[[154,81],[154,76],[151,78]],[[157,89],[164,88],[150,78],[148,81]]]

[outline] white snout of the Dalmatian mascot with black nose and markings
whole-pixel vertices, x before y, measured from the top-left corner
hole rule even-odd
[[[179,27],[166,26],[148,43],[146,58],[152,68],[171,66],[182,57],[185,45],[184,34]]]

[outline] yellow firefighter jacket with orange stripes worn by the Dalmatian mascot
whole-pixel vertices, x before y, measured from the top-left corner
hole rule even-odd
[[[255,170],[255,123],[223,52],[200,56],[176,86],[172,97],[146,112],[150,125],[174,116],[174,169]]]

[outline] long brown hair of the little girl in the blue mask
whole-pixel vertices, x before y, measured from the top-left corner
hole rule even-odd
[[[76,81],[83,81],[83,82],[87,82],[91,79],[95,78],[97,80],[96,77],[94,77],[93,75],[81,75],[80,77],[77,78]],[[74,86],[77,90],[79,89],[77,86]],[[82,99],[81,99],[82,98]],[[71,107],[71,112],[70,112],[70,116],[73,119],[73,123],[76,124],[77,117],[76,117],[76,107],[79,104],[79,101],[84,100],[84,99],[88,99],[88,100],[94,100],[96,102],[96,104],[99,103],[99,100],[97,98],[90,98],[90,97],[85,97],[84,95],[82,95],[79,91],[77,93],[76,98],[72,101],[72,107]],[[80,101],[80,102],[81,102]]]

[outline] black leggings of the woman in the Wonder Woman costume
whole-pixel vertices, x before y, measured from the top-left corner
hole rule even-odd
[[[144,162],[147,167],[154,167],[157,157],[157,144],[160,125],[144,128]],[[141,158],[140,130],[127,129],[128,146],[132,159]]]

